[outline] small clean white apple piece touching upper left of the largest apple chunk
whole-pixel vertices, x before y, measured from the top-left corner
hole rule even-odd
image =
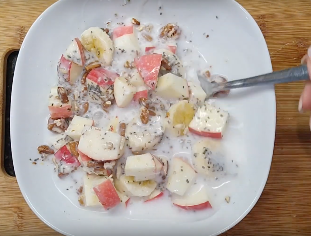
[[[84,125],[93,125],[93,120],[81,116],[74,116],[65,134],[72,139],[79,140],[84,129]]]

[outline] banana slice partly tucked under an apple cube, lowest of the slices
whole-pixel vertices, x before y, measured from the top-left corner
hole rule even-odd
[[[135,182],[133,176],[121,175],[120,179],[115,180],[116,189],[128,196],[149,196],[156,189],[157,182],[153,180]]]

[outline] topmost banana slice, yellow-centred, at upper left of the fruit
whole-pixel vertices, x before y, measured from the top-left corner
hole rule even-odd
[[[110,65],[114,54],[114,44],[109,35],[99,27],[91,27],[81,35],[81,43],[86,50],[94,53],[104,65]]]

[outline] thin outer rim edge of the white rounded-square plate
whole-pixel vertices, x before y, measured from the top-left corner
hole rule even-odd
[[[20,47],[20,52],[23,50],[23,48],[25,47],[25,44],[26,44],[26,41],[27,41],[27,36],[29,36],[29,34],[31,34],[31,32],[33,31],[33,29],[36,27],[37,23],[40,21],[40,19],[42,17],[44,17],[44,14],[48,13],[49,11],[52,11],[54,7],[56,7],[58,4],[61,4],[62,2],[65,2],[67,0],[58,0],[56,2],[54,2],[52,5],[50,5],[47,9],[45,9],[40,15],[39,17],[37,17],[37,19],[33,22],[33,24],[30,26],[22,44],[21,44],[21,47]],[[260,27],[258,26],[257,22],[255,21],[255,19],[253,18],[253,16],[239,3],[237,2],[236,0],[230,0],[232,2],[234,2],[238,7],[240,7],[247,15],[248,15],[248,20],[252,21],[252,23],[254,24],[254,27],[257,26],[258,30],[260,31],[260,35],[264,41],[264,44],[265,44],[265,47],[267,49],[267,56],[269,57],[269,64],[268,64],[268,61],[267,61],[267,66],[269,66],[269,71],[272,72],[273,71],[273,68],[272,68],[272,62],[271,62],[271,57],[270,57],[270,53],[269,53],[269,49],[268,49],[268,46],[267,46],[267,41],[265,40],[263,34],[262,34],[262,31],[260,29]],[[256,26],[255,26],[256,25]],[[259,32],[258,32],[259,33]],[[16,67],[15,67],[15,70],[17,68],[17,65],[19,65],[18,63],[19,61],[19,58],[17,58],[17,61],[16,61]],[[14,73],[14,77],[15,77],[15,73]],[[14,77],[13,77],[13,83],[12,83],[12,92],[14,90],[14,84],[16,84],[16,79],[14,80]],[[15,81],[15,83],[14,83]],[[271,91],[272,93],[272,91]],[[13,93],[12,93],[13,94]],[[269,173],[270,173],[270,170],[271,170],[271,164],[272,164],[272,158],[273,158],[273,152],[274,152],[274,145],[275,145],[275,135],[276,135],[276,96],[275,96],[275,87],[273,85],[273,94],[271,94],[270,96],[273,96],[273,99],[274,99],[274,102],[272,102],[272,109],[274,111],[274,114],[273,114],[273,126],[274,126],[274,129],[273,129],[273,148],[272,148],[272,153],[271,153],[271,161],[269,163],[269,168],[267,168],[267,173],[265,173],[265,178],[263,179],[262,181],[262,185],[260,186],[260,188],[258,189],[258,194],[257,194],[257,197],[254,199],[254,201],[252,202],[252,204],[248,207],[248,209],[243,213],[243,215],[241,215],[238,219],[236,219],[232,224],[230,224],[228,227],[226,227],[225,229],[222,229],[220,231],[218,231],[217,233],[214,233],[212,234],[211,236],[215,236],[215,235],[219,235],[221,233],[224,233],[226,231],[228,231],[229,229],[233,228],[235,225],[239,224],[239,222],[241,222],[247,215],[248,213],[253,209],[253,207],[257,204],[259,198],[262,196],[262,192],[267,184],[267,179],[269,177]],[[16,95],[14,96],[16,97]],[[12,96],[13,98],[13,96]],[[15,99],[14,99],[15,100]],[[12,107],[12,101],[13,99],[11,100],[11,107]],[[11,117],[12,117],[12,114],[14,112],[12,112],[11,110],[11,115],[10,115],[10,120],[11,120]],[[14,119],[12,119],[14,120]],[[14,122],[10,122],[10,129],[12,129],[12,126],[13,126],[13,123]],[[11,132],[11,140],[12,139],[12,132]],[[11,148],[12,148],[12,143],[11,143]],[[12,148],[12,159],[13,159],[13,165],[14,165],[14,155],[13,155],[13,148]],[[15,161],[16,162],[16,161]],[[55,227],[54,225],[50,224],[47,220],[45,220],[44,217],[42,217],[39,212],[35,209],[35,207],[31,204],[31,202],[29,201],[28,199],[28,196],[27,194],[25,193],[25,190],[22,190],[24,189],[23,186],[20,186],[19,184],[19,181],[18,181],[18,172],[16,172],[16,181],[17,181],[17,184],[20,188],[20,191],[21,191],[21,194],[22,196],[24,197],[27,205],[30,207],[30,209],[35,213],[35,215],[42,221],[44,222],[44,224],[46,224],[47,226],[49,226],[51,229],[54,229],[55,231],[57,231],[58,233],[60,234],[63,234],[63,235],[68,235],[68,236],[74,236],[72,234],[69,234],[67,232],[64,232],[62,231],[61,229],[58,229],[57,227]]]

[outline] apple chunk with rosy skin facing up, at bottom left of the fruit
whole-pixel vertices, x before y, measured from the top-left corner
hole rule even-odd
[[[93,190],[105,210],[114,208],[121,202],[117,190],[110,179],[96,185],[93,187]]]

